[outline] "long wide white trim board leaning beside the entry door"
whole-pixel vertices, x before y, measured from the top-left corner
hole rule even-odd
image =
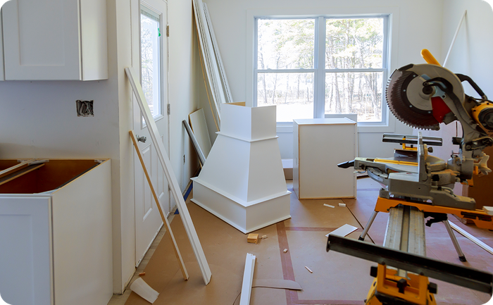
[[[127,73],[128,80],[130,80],[130,85],[132,85],[132,89],[135,92],[135,97],[137,97],[137,104],[139,104],[140,111],[142,111],[142,116],[144,116],[146,125],[149,128],[149,134],[151,135],[154,147],[156,147],[159,162],[163,167],[166,179],[168,179],[171,194],[173,194],[173,198],[175,198],[176,206],[180,212],[180,218],[182,218],[183,226],[185,227],[188,239],[192,245],[192,249],[194,250],[197,263],[199,263],[202,278],[204,278],[204,282],[207,285],[211,281],[211,269],[208,266],[206,255],[204,254],[204,249],[202,249],[200,244],[199,236],[197,236],[194,223],[192,223],[192,218],[190,217],[187,204],[185,204],[185,199],[182,197],[182,192],[178,185],[178,181],[176,180],[175,173],[173,172],[173,167],[171,166],[168,154],[166,154],[164,144],[162,141],[158,141],[158,139],[161,139],[161,135],[159,135],[158,132],[158,127],[156,126],[156,122],[154,122],[154,118],[152,118],[151,110],[147,105],[142,87],[140,87],[139,79],[135,77],[135,75],[132,75],[130,68],[125,68],[125,73]]]

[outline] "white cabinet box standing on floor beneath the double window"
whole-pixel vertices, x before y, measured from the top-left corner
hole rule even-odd
[[[293,189],[299,199],[356,197],[356,174],[337,164],[357,154],[357,126],[349,118],[293,120]]]

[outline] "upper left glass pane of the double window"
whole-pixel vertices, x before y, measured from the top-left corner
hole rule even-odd
[[[258,19],[257,68],[312,69],[315,20]]]

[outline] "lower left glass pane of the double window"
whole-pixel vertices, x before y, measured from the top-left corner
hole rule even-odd
[[[277,122],[313,118],[313,73],[258,73],[257,106],[271,105]]]

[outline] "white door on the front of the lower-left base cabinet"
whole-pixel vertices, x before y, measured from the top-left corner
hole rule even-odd
[[[0,197],[0,297],[6,304],[53,304],[50,206],[50,197]]]

